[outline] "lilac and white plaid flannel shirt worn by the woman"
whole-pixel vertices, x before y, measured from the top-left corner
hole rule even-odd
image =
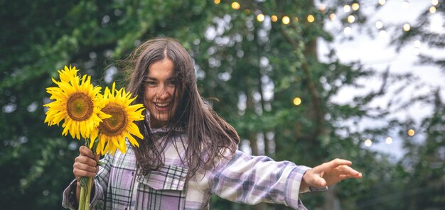
[[[155,136],[160,136],[156,142],[165,140],[165,132],[163,128],[152,129]],[[185,146],[180,136],[184,139],[186,134],[175,131],[163,150],[164,166],[147,175],[136,170],[128,142],[127,153],[106,155],[102,159],[106,164],[95,177],[90,209],[209,209],[211,194],[244,204],[267,202],[306,209],[299,193],[301,179],[309,167],[237,150],[230,158],[215,160],[215,168],[200,169],[186,180],[188,167],[181,161]],[[63,192],[65,208],[75,209],[76,183],[73,180]]]

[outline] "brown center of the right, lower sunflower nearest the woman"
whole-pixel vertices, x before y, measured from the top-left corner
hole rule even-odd
[[[99,131],[107,136],[118,136],[121,134],[127,126],[127,115],[125,111],[122,110],[122,106],[107,104],[107,106],[102,108],[102,111],[105,114],[111,115],[111,117],[99,123]]]

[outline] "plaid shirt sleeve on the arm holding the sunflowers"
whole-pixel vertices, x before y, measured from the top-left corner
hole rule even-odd
[[[90,203],[90,209],[104,209],[104,195],[107,192],[108,177],[109,177],[109,155],[100,160],[103,162],[102,166],[99,167],[99,171],[94,179],[95,187],[94,192],[91,192],[92,199]],[[74,179],[73,182],[68,185],[68,187],[63,191],[62,206],[66,209],[77,209],[76,201],[76,187],[77,180]]]

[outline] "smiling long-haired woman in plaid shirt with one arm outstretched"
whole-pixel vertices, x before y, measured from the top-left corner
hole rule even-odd
[[[201,99],[193,60],[176,40],[149,40],[129,59],[128,89],[138,95],[134,103],[146,108],[138,125],[144,139],[138,139],[139,148],[127,143],[125,154],[105,155],[103,167],[82,146],[64,207],[79,201],[79,177],[95,177],[92,209],[208,209],[210,194],[306,209],[299,193],[361,177],[348,160],[311,169],[237,150],[237,132]]]

